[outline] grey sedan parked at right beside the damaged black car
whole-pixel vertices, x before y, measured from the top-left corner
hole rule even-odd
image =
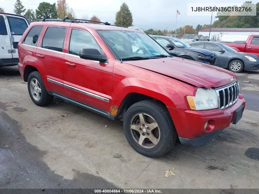
[[[259,57],[244,52],[238,52],[221,42],[192,43],[192,47],[204,48],[217,54],[216,66],[228,68],[233,72],[242,70],[258,70]]]

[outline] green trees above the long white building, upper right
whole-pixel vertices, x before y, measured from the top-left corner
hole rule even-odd
[[[246,1],[245,3],[252,3]],[[244,6],[244,4],[242,5]],[[213,28],[258,28],[259,27],[259,2],[253,4],[256,7],[256,16],[244,16],[239,13],[238,16],[222,16],[222,12],[218,12],[216,18],[219,20],[214,21]],[[253,8],[252,8],[253,9]]]

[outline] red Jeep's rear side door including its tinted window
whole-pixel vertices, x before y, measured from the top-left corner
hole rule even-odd
[[[39,47],[36,50],[36,60],[40,67],[44,67],[45,78],[48,82],[46,89],[55,93],[64,94],[63,68],[64,52],[63,44],[66,35],[66,27],[48,27]]]

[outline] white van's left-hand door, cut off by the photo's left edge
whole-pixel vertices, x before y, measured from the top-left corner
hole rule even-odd
[[[4,14],[0,14],[0,59],[12,59],[10,36]]]

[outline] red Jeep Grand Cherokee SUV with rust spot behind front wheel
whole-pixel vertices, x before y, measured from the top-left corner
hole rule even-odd
[[[32,101],[53,97],[122,120],[128,143],[158,157],[175,144],[202,145],[242,117],[235,74],[172,57],[147,34],[72,19],[33,22],[19,44]]]

